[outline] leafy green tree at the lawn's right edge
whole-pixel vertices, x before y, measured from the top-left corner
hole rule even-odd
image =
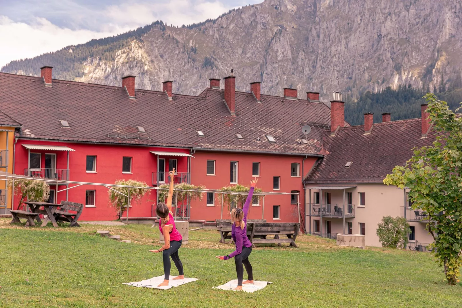
[[[436,140],[432,146],[414,148],[406,166],[396,166],[383,183],[409,188],[413,209],[427,212],[437,262],[447,282],[456,284],[462,248],[462,118],[434,94],[425,98]]]

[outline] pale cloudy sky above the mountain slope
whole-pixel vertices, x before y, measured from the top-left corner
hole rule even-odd
[[[188,25],[263,0],[0,0],[0,68],[162,20]]]

